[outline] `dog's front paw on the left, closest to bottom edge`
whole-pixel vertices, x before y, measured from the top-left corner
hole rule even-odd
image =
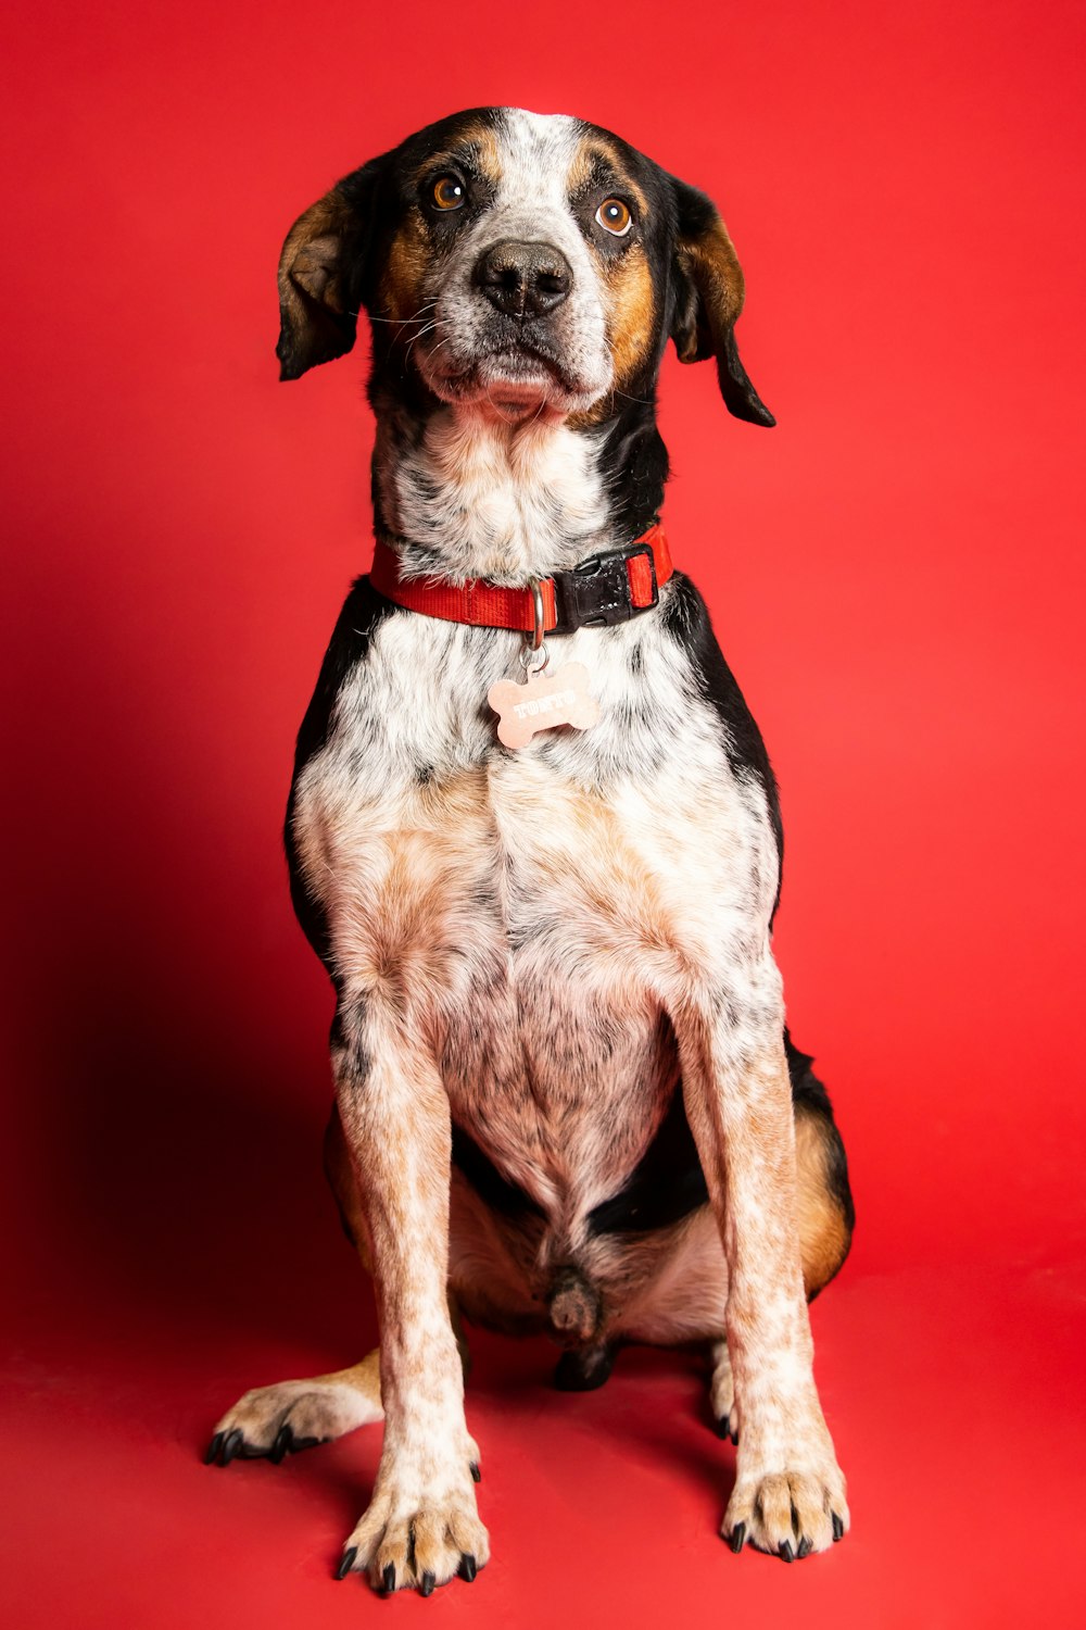
[[[381,1477],[358,1527],[347,1540],[337,1579],[365,1573],[374,1589],[415,1589],[430,1596],[458,1575],[471,1581],[490,1560],[467,1467],[441,1491]]]

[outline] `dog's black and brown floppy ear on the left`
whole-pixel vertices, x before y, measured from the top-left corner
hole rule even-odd
[[[363,165],[287,233],[278,261],[280,380],[300,380],[355,344],[378,173],[379,160]]]

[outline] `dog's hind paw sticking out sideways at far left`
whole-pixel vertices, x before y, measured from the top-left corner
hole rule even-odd
[[[280,1381],[254,1387],[226,1410],[207,1447],[208,1465],[269,1459],[342,1438],[355,1426],[379,1421],[381,1408],[357,1387],[332,1381]]]

